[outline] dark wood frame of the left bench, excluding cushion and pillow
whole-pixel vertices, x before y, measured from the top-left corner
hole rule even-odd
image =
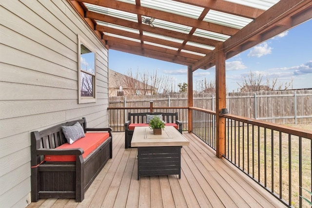
[[[85,158],[82,156],[84,151],[81,148],[56,149],[67,143],[61,127],[72,126],[77,121],[86,134],[86,137],[80,139],[88,139],[88,132],[103,132],[102,134],[106,132],[105,137],[109,134],[105,141],[96,144],[98,147]],[[85,191],[99,171],[109,158],[112,158],[111,131],[111,128],[86,128],[86,120],[82,118],[40,132],[31,132],[32,202],[37,202],[39,198],[75,198],[76,202],[81,202],[84,199]],[[75,155],[76,161],[50,162],[43,159],[44,155]]]

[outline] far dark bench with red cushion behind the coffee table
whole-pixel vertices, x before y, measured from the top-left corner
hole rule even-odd
[[[160,115],[162,120],[165,121],[166,126],[175,127],[182,133],[182,122],[178,120],[177,112],[175,113],[128,113],[128,120],[125,123],[125,149],[131,148],[131,140],[135,127],[149,126],[150,116]]]

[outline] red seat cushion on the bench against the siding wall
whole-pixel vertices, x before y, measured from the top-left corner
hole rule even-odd
[[[81,148],[84,153],[82,157],[85,158],[92,151],[94,151],[100,144],[102,144],[109,137],[108,132],[90,132],[86,133],[85,137],[78,139],[73,144],[62,144],[61,146],[55,149],[73,149]],[[68,162],[76,161],[75,155],[44,155],[45,161],[54,161],[54,162]]]

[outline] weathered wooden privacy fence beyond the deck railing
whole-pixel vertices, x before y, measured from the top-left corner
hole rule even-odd
[[[215,111],[215,94],[194,94],[194,107]],[[109,97],[109,107],[186,107],[187,94],[129,95]],[[230,114],[279,124],[312,123],[312,90],[231,93]]]

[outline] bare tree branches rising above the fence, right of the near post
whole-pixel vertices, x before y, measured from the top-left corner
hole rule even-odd
[[[290,82],[278,82],[277,78],[270,80],[266,76],[266,81],[263,81],[263,73],[250,71],[247,76],[242,77],[242,83],[238,83],[240,92],[258,92],[258,91],[274,91],[274,90],[287,90],[292,86]]]

